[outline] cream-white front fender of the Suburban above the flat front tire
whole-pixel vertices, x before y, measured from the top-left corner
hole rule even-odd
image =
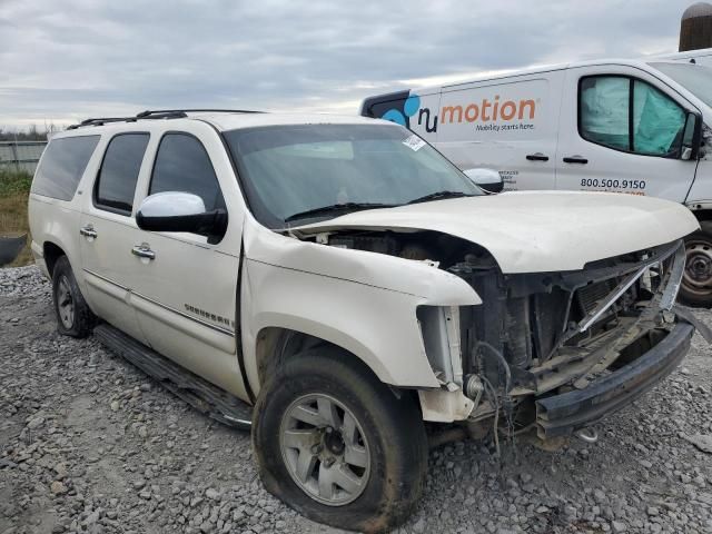
[[[439,387],[416,308],[482,303],[466,281],[426,263],[300,241],[249,219],[244,247],[243,349],[255,392],[256,339],[268,327],[340,346],[386,384]]]

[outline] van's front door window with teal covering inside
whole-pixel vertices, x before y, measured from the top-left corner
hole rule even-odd
[[[578,85],[578,132],[626,152],[679,157],[685,112],[651,85],[624,76],[592,76]]]

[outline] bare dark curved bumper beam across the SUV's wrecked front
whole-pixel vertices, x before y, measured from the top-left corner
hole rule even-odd
[[[694,327],[676,323],[645,354],[585,389],[536,400],[536,427],[542,439],[570,435],[631,404],[668,376],[690,348]]]

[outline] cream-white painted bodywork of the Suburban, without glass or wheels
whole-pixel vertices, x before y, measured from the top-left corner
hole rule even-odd
[[[293,236],[275,233],[247,208],[219,130],[315,122],[374,123],[354,117],[212,115],[62,132],[55,139],[90,134],[100,140],[71,200],[31,195],[36,259],[47,274],[46,247],[60,247],[97,315],[245,400],[247,386],[255,393],[260,388],[260,334],[284,328],[343,347],[384,383],[419,389],[425,418],[454,421],[466,418],[473,403],[462,389],[444,389],[435,376],[416,308],[479,305],[473,288],[425,261],[294,236],[338,228],[429,229],[481,245],[504,273],[533,273],[578,269],[696,228],[686,209],[660,199],[531,192],[369,210],[297,227]],[[147,132],[150,139],[134,211],[119,215],[95,206],[91,191],[108,142],[131,131]],[[212,162],[229,215],[219,244],[191,234],[144,231],[136,224],[158,144],[168,131],[195,136]],[[622,226],[627,231],[617,231]],[[80,235],[85,227],[96,237]],[[155,259],[132,255],[137,246],[150,248]],[[237,336],[245,373],[238,365]],[[451,349],[455,354],[458,345]]]

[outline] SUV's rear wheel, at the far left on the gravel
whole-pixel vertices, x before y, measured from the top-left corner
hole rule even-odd
[[[67,256],[61,256],[52,270],[52,303],[61,335],[87,337],[91,334],[97,318],[79,290]]]

